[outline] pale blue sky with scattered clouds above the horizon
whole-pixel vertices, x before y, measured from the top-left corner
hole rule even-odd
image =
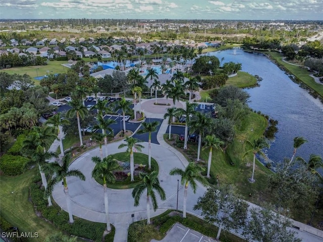
[[[323,0],[0,0],[0,18],[323,20]]]

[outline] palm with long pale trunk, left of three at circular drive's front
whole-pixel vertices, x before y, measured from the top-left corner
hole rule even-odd
[[[114,159],[112,155],[109,155],[103,159],[95,156],[95,157],[92,157],[92,161],[95,163],[94,169],[92,170],[92,177],[95,178],[100,176],[103,179],[106,230],[111,231],[106,182],[115,183],[116,177],[113,172],[115,170],[120,170],[121,167],[119,166],[118,161]]]

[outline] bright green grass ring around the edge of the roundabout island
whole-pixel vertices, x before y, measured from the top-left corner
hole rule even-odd
[[[126,154],[126,152],[121,152],[117,154],[113,154],[113,157],[117,160],[124,161],[124,162],[130,162],[130,154]],[[136,153],[134,152],[134,163],[135,164],[143,164],[148,166],[148,155],[142,154],[142,153]],[[157,161],[151,157],[151,170],[157,170],[159,171],[159,166]],[[140,184],[142,181],[139,179],[138,176],[134,177],[134,181],[130,181],[130,176],[126,178],[124,181],[116,181],[116,183],[107,183],[106,187],[112,188],[112,189],[130,189],[136,187],[138,184]],[[95,177],[95,180],[97,183],[103,185],[103,180],[101,177]]]

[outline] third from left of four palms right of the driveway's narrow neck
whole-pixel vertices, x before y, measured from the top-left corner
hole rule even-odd
[[[198,133],[197,161],[200,160],[202,137],[204,137],[205,131],[210,130],[213,126],[213,120],[209,115],[201,112],[196,112],[192,119],[189,120],[190,132]]]

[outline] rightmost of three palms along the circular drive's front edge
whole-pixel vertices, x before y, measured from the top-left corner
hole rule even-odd
[[[184,200],[183,200],[183,218],[186,218],[186,201],[187,201],[188,185],[191,186],[194,193],[196,192],[196,189],[197,189],[196,181],[199,181],[203,186],[206,186],[207,181],[201,175],[201,172],[204,170],[205,169],[199,164],[195,162],[190,162],[188,166],[186,166],[185,170],[175,167],[170,171],[170,175],[180,175],[181,184],[182,185],[185,184]]]

